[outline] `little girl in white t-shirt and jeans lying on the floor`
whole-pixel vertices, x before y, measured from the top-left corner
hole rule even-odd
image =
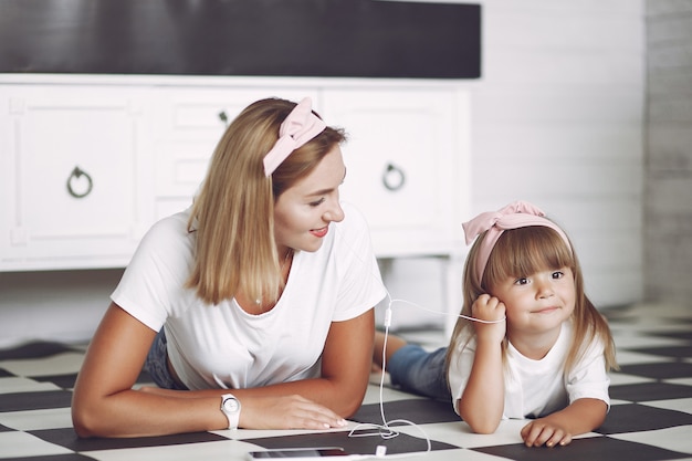
[[[567,235],[521,201],[463,228],[466,243],[478,239],[450,346],[428,354],[392,337],[392,383],[436,398],[451,390],[454,410],[475,432],[494,432],[505,418],[530,418],[521,431],[528,447],[565,446],[598,428],[610,405],[615,346],[584,293]]]

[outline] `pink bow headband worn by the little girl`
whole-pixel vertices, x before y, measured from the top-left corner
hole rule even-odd
[[[565,241],[567,248],[572,249],[569,239],[560,228],[553,221],[543,218],[545,213],[537,207],[525,202],[515,201],[507,205],[499,211],[486,211],[473,218],[471,221],[464,222],[463,229],[466,235],[466,244],[470,244],[481,233],[487,231],[483,242],[479,248],[475,260],[476,273],[479,274],[479,285],[483,280],[483,272],[487,264],[491,251],[497,243],[497,239],[502,232],[508,229],[527,228],[530,226],[544,226],[555,230]]]

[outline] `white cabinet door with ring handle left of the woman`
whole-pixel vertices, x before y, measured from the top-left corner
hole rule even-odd
[[[153,218],[145,95],[0,86],[0,269],[128,262]]]

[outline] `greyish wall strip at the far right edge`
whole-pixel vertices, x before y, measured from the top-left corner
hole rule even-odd
[[[647,297],[692,308],[692,1],[647,1]]]

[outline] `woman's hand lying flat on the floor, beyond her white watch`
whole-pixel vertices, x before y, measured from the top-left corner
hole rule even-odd
[[[252,397],[240,412],[245,429],[332,429],[343,428],[346,420],[328,408],[298,395]]]

